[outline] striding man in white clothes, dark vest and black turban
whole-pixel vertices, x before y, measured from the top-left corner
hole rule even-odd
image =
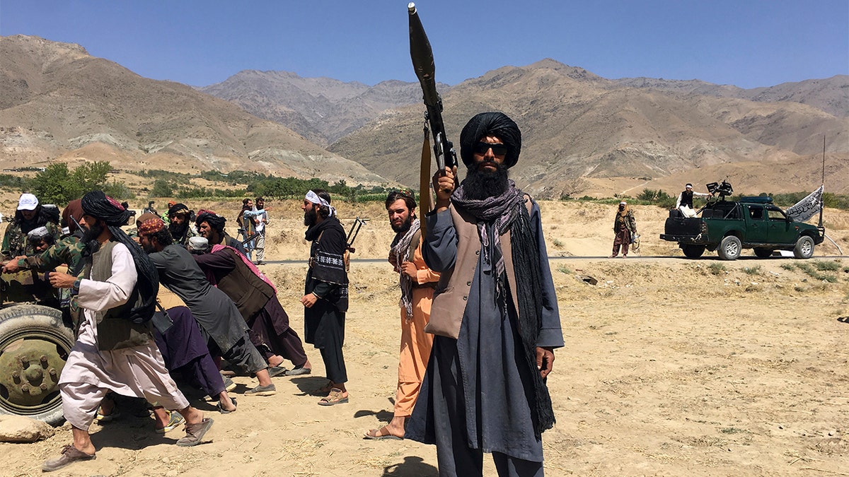
[[[212,419],[189,406],[156,347],[149,318],[159,279],[147,255],[121,231],[129,212],[100,191],[82,198],[82,210],[84,271],[80,277],[49,277],[54,287],[69,288],[83,311],[76,343],[59,376],[62,410],[73,426],[74,442],[45,461],[45,472],[94,458],[88,428],[110,390],[180,412],[187,424],[178,446],[198,444],[212,425]]]

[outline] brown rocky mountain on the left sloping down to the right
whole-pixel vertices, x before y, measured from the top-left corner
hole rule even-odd
[[[124,169],[249,170],[357,183],[385,178],[277,122],[79,45],[0,37],[0,166],[84,157]]]

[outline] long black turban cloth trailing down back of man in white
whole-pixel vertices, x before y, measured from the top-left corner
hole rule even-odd
[[[106,227],[112,233],[112,239],[127,246],[132,255],[132,261],[136,264],[136,272],[138,273],[138,282],[136,289],[141,300],[137,302],[137,306],[133,306],[130,310],[130,316],[127,317],[133,323],[147,323],[156,311],[156,295],[159,294],[159,273],[156,272],[154,262],[150,260],[148,254],[144,253],[141,247],[132,241],[127,236],[121,226],[127,223],[130,218],[130,211],[119,204],[117,200],[112,199],[103,193],[103,191],[93,191],[82,196],[82,210],[87,216],[93,216],[99,220],[106,222]],[[83,255],[86,260],[91,260],[90,255],[94,250],[86,244],[86,250]]]

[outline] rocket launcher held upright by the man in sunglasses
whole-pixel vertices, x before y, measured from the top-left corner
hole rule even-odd
[[[445,123],[442,121],[442,98],[436,93],[436,66],[433,62],[433,50],[419,20],[415,3],[408,3],[407,11],[410,23],[410,58],[413,70],[419,78],[424,99],[424,146],[422,146],[421,177],[419,182],[419,210],[422,215],[430,210],[430,149],[428,147],[428,129],[433,134],[433,152],[436,155],[436,167],[444,171],[446,166],[457,166],[457,153],[454,144],[447,139]]]

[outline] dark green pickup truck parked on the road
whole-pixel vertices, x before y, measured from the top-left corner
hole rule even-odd
[[[684,217],[670,210],[661,239],[678,242],[688,258],[705,250],[717,250],[722,260],[736,260],[743,249],[754,249],[766,258],[774,250],[792,250],[796,258],[811,258],[813,247],[822,244],[825,231],[793,222],[771,197],[744,197],[739,202],[717,200],[700,210],[700,216]]]

